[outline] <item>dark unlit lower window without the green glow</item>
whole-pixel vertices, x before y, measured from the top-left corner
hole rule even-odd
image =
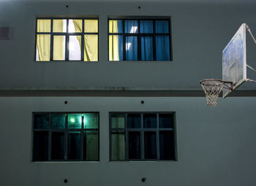
[[[175,113],[110,113],[110,160],[176,160]]]

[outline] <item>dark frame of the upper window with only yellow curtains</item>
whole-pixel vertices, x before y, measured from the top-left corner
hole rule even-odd
[[[50,32],[37,32],[37,20],[50,20]],[[53,32],[53,20],[67,20],[67,31],[66,32]],[[68,32],[69,27],[69,20],[82,20],[82,32]],[[84,32],[84,20],[98,20],[98,32]],[[35,44],[34,44],[34,61],[36,62],[97,62],[99,61],[99,18],[93,17],[93,18],[36,18],[36,24],[35,24]],[[37,61],[37,34],[49,34],[50,35],[50,61]],[[98,36],[98,55],[97,61],[84,61],[84,35],[97,35]],[[53,60],[53,36],[65,36],[65,60]],[[69,60],[69,36],[81,36],[81,60]]]

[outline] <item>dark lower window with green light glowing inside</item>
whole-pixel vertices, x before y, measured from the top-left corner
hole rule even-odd
[[[33,113],[32,160],[99,160],[99,113]]]

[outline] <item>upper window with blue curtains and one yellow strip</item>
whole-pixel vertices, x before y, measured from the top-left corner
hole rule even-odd
[[[109,19],[109,61],[170,61],[170,18]]]

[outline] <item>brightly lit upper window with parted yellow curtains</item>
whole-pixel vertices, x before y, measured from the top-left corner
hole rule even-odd
[[[98,20],[37,18],[36,61],[98,61]]]

